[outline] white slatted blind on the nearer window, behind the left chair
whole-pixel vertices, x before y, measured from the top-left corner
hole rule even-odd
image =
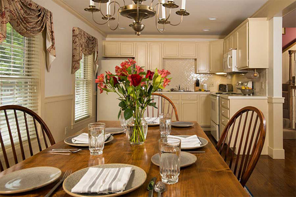
[[[0,44],[0,105],[21,105],[38,113],[40,78],[39,37],[26,38],[7,23],[7,38]],[[14,142],[18,135],[13,110],[7,110]],[[22,112],[17,113],[22,140],[28,139]],[[36,137],[33,118],[27,115],[30,138]],[[10,144],[4,111],[0,114],[4,144]]]

